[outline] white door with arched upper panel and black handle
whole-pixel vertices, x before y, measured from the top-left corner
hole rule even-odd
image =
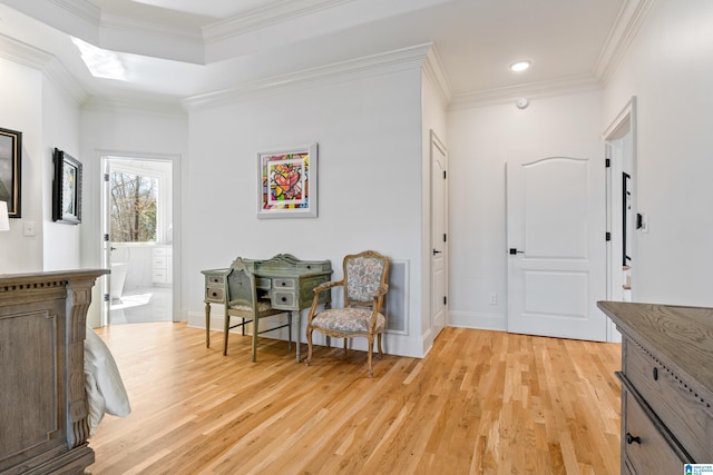
[[[508,155],[508,331],[604,342],[604,145],[561,151]]]

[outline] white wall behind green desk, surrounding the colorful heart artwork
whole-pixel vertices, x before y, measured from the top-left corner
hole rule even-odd
[[[384,350],[422,354],[420,83],[414,67],[191,111],[183,207],[189,325],[204,326],[202,269],[290,253],[330,259],[340,278],[344,255],[373,249],[408,260],[411,273],[410,334],[389,336]],[[309,142],[319,144],[319,217],[257,219],[256,154]]]

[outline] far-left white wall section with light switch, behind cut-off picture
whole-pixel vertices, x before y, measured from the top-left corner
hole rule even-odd
[[[0,58],[0,128],[22,132],[21,218],[0,231],[0,274],[42,270],[42,204],[46,148],[42,142],[42,73]],[[25,221],[37,235],[25,237]]]

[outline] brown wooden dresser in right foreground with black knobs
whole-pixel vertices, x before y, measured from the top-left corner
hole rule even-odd
[[[713,308],[598,306],[622,333],[622,473],[713,463]]]

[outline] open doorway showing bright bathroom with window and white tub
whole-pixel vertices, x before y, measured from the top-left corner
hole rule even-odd
[[[105,325],[173,320],[173,166],[102,157]]]

